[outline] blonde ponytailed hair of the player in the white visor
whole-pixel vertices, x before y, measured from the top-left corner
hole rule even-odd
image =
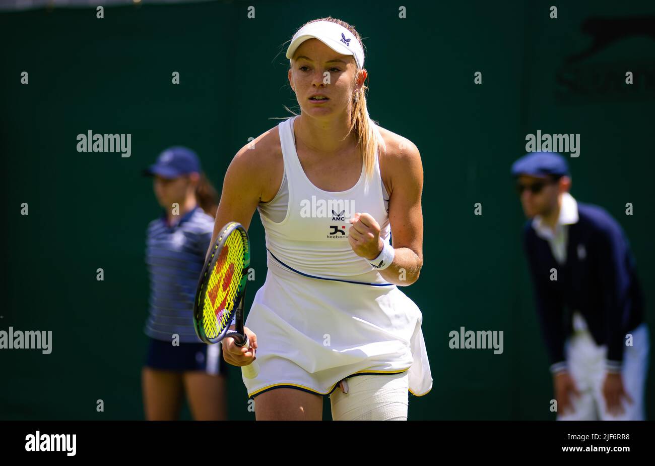
[[[348,29],[352,35],[355,36],[357,41],[362,45],[362,49],[364,49],[362,37],[360,37],[355,28],[350,26],[350,24],[346,23],[345,21],[327,16],[327,18],[318,18],[316,20],[308,21],[307,23],[303,24],[303,26],[307,26],[307,24],[316,21],[330,21],[339,24],[339,26],[343,26],[344,28]],[[301,28],[303,28],[303,26],[301,26]],[[359,66],[357,64],[355,66],[357,71],[360,71]],[[352,93],[352,98],[350,100],[352,111],[350,112],[351,119],[350,128],[348,128],[348,134],[350,134],[350,132],[354,132],[355,138],[362,152],[366,178],[370,178],[373,175],[373,170],[375,170],[375,153],[377,153],[380,148],[386,151],[386,145],[384,144],[384,140],[380,134],[379,125],[377,125],[377,123],[373,121],[369,115],[368,107],[366,104],[367,90],[368,87],[363,84],[359,90],[356,90]],[[285,106],[285,108],[293,113],[293,115],[298,116],[288,107]]]

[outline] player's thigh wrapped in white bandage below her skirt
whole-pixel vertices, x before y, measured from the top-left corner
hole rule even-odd
[[[407,421],[409,377],[375,374],[345,379],[348,393],[337,387],[330,395],[335,421]]]

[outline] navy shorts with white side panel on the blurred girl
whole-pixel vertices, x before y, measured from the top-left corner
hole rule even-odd
[[[196,371],[227,375],[227,362],[223,360],[221,343],[179,343],[149,338],[145,366],[178,372]]]

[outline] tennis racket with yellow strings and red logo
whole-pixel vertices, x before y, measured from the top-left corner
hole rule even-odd
[[[223,338],[251,348],[244,333],[244,302],[250,267],[250,242],[246,229],[237,222],[227,223],[218,235],[207,258],[196,290],[193,306],[193,326],[200,340],[208,345]],[[234,330],[230,326],[234,319]],[[242,366],[244,376],[252,379],[259,374],[259,364],[253,361]]]

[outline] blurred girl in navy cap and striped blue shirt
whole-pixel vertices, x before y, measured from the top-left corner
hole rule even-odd
[[[225,419],[225,368],[219,345],[198,340],[193,300],[209,247],[216,191],[185,147],[163,151],[145,170],[164,209],[148,225],[150,272],[147,361],[142,371],[143,404],[149,420],[174,420],[183,394],[195,419]],[[211,216],[210,216],[211,214]]]

